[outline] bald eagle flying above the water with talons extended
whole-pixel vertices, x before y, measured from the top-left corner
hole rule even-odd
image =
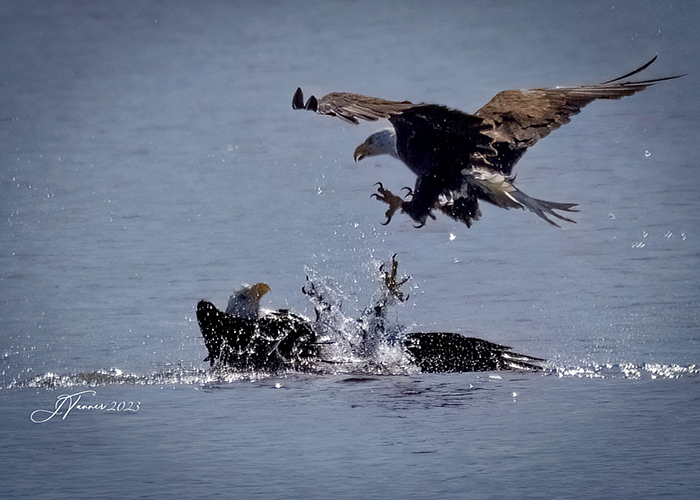
[[[528,209],[554,226],[548,216],[575,222],[557,212],[577,212],[575,203],[538,200],[519,190],[513,167],[525,151],[596,99],[620,99],[664,80],[625,80],[651,65],[651,61],[621,77],[595,85],[499,92],[473,115],[437,104],[387,101],[346,92],[304,103],[298,88],[293,109],[337,116],[346,122],[388,119],[392,128],[370,135],[355,150],[355,161],[390,155],[418,176],[415,187],[402,199],[381,183],[372,196],[389,205],[386,222],[401,209],[422,227],[437,209],[471,227],[479,219],[479,201],[498,207]],[[623,81],[625,80],[625,81]]]

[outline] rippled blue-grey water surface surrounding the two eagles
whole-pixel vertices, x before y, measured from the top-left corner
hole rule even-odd
[[[696,2],[0,4],[0,496],[695,498],[700,488]],[[474,111],[659,53],[687,73],[597,102],[518,166],[578,224],[482,207],[387,227],[412,174],[375,124],[293,112],[342,90]],[[453,235],[451,238],[450,235]],[[398,253],[395,320],[555,374],[209,372],[194,319],[242,282],[359,314]],[[61,394],[140,402],[30,421]]]

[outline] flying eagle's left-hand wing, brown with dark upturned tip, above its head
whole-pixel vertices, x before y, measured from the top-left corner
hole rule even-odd
[[[332,92],[317,99],[309,97],[304,104],[304,93],[298,88],[292,99],[292,109],[306,109],[329,116],[337,116],[346,122],[357,125],[359,120],[376,121],[389,118],[406,109],[416,106],[410,101],[387,101],[379,97],[370,97],[348,92]]]

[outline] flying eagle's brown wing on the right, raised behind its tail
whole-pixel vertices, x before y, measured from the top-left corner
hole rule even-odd
[[[475,113],[493,127],[484,132],[493,139],[493,151],[484,158],[485,164],[510,175],[527,148],[569,123],[571,116],[580,113],[587,104],[596,99],[621,99],[658,82],[683,76],[621,81],[645,70],[655,60],[656,57],[626,75],[596,85],[499,92]]]

